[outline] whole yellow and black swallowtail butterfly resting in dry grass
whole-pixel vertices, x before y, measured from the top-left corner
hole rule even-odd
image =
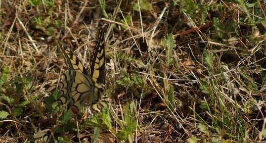
[[[68,70],[59,82],[61,96],[59,101],[66,105],[64,110],[78,114],[88,103],[94,112],[106,106],[105,95],[105,42],[104,32],[100,29],[93,51],[89,72],[79,58],[62,41],[57,40],[57,48],[64,57]]]

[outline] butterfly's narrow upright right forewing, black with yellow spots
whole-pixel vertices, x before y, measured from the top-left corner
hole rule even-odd
[[[90,62],[89,75],[97,84],[105,84],[105,44],[104,32],[101,28]]]

